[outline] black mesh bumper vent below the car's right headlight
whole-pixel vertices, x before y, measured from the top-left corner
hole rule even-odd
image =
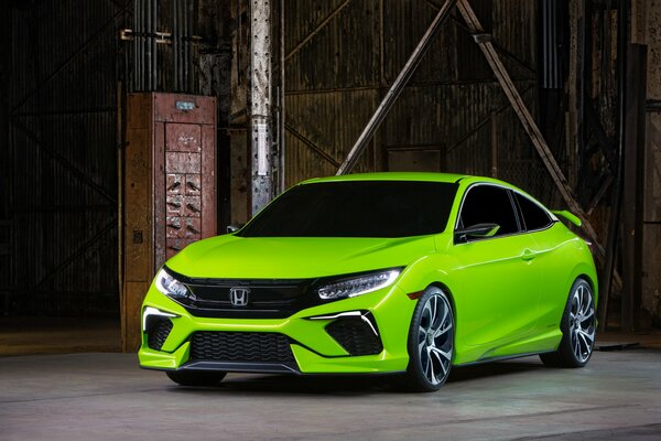
[[[373,322],[372,326],[376,329]],[[338,319],[326,326],[326,332],[350,355],[375,355],[383,351],[381,338],[361,318]]]

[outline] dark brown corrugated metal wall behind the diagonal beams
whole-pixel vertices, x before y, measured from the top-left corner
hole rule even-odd
[[[288,2],[285,53],[343,3]],[[335,173],[336,166],[314,150],[343,161],[436,14],[434,4],[442,1],[354,0],[288,60],[286,122],[314,144],[313,149],[292,131],[286,133],[288,185]],[[472,4],[485,29],[492,31],[503,63],[534,112],[537,2]],[[388,152],[407,149],[438,152],[440,171],[489,175],[496,166],[499,178],[545,202],[555,196],[545,169],[460,19],[443,26],[360,169],[386,170],[388,158],[398,158]]]

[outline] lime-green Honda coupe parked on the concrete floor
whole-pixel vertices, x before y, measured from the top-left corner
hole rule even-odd
[[[590,249],[525,192],[488,178],[370,173],[293,186],[156,275],[140,365],[181,385],[226,373],[399,374],[539,354],[581,367],[595,342]]]

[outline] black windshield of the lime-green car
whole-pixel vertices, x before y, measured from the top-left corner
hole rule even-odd
[[[409,237],[442,233],[457,185],[343,181],[297,185],[238,233],[242,237]]]

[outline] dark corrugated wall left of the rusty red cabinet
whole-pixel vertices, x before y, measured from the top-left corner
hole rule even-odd
[[[12,10],[13,313],[118,312],[119,4]]]

